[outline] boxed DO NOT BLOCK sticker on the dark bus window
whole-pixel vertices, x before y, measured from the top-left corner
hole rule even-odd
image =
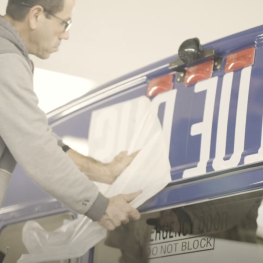
[[[149,245],[149,259],[213,250],[215,237],[199,236]]]

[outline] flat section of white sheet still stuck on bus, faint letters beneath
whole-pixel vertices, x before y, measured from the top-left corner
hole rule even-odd
[[[112,155],[127,151],[135,125],[149,104],[148,98],[140,97],[94,111],[89,135],[90,155],[110,162]]]

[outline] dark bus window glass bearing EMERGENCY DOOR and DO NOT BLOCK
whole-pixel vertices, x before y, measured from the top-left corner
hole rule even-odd
[[[143,214],[95,247],[94,263],[261,263],[263,191]]]

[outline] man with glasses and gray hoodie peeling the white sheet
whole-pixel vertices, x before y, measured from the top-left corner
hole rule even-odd
[[[9,0],[0,17],[0,205],[18,162],[47,193],[112,230],[139,219],[129,202],[141,192],[108,199],[90,180],[112,183],[136,153],[103,164],[69,149],[49,128],[33,91],[28,54],[47,59],[58,51],[69,39],[74,6],[75,0]]]

